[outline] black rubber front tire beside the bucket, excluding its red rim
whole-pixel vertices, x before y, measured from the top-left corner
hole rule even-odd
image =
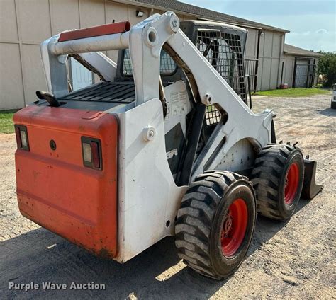
[[[286,204],[286,175],[293,163],[298,164],[299,180],[293,202]],[[300,149],[287,144],[270,144],[259,152],[252,170],[257,195],[257,212],[264,217],[284,221],[295,212],[303,188],[304,161]]]

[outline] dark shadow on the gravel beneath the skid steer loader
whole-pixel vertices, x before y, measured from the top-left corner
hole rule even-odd
[[[301,200],[298,211],[308,202]],[[247,256],[272,238],[286,222],[257,218],[256,231]],[[0,243],[0,299],[65,297],[87,299],[138,298],[174,299],[197,295],[208,298],[230,280],[217,282],[189,268],[174,269],[179,262],[174,238],[164,238],[129,262],[121,265],[102,260],[45,229],[36,229]],[[243,265],[242,267],[248,267]],[[28,292],[9,290],[9,282],[40,284]],[[43,290],[42,282],[104,283],[106,290]]]

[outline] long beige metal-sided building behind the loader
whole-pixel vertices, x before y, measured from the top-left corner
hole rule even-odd
[[[254,91],[274,89],[281,83],[292,86],[294,82],[296,86],[301,86],[302,80],[300,79],[300,83],[298,80],[293,80],[293,77],[298,78],[293,74],[294,71],[299,72],[298,69],[300,72],[304,71],[305,67],[295,66],[308,62],[310,66],[306,67],[308,74],[315,70],[312,65],[317,63],[318,54],[285,45],[288,30],[179,1],[1,0],[0,109],[22,108],[35,100],[36,90],[46,89],[40,62],[40,43],[48,37],[62,30],[86,28],[113,21],[129,20],[135,24],[152,13],[169,10],[177,13],[181,20],[212,20],[247,28],[245,69],[252,79]],[[107,54],[116,60],[116,52],[110,51]],[[309,61],[307,57],[310,58]],[[76,67],[79,66],[74,66]],[[91,74],[83,72],[82,76],[77,76],[78,87],[94,82]]]

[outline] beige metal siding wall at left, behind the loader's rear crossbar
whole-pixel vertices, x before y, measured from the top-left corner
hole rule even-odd
[[[72,28],[130,20],[138,23],[137,6],[104,0],[0,0],[0,110],[22,108],[46,89],[40,43]],[[117,53],[108,56],[116,60]]]

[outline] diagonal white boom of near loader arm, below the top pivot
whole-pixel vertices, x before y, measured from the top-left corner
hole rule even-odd
[[[257,150],[271,142],[271,120],[274,117],[271,110],[254,114],[181,30],[167,44],[188,66],[201,102],[204,105],[219,105],[228,114],[228,120],[224,125],[218,125],[221,129],[215,131],[208,147],[198,156],[191,180],[203,172],[205,165],[208,169],[218,166],[223,155],[237,141],[249,139]],[[225,143],[218,149],[223,139]],[[217,155],[213,156],[216,152]]]

